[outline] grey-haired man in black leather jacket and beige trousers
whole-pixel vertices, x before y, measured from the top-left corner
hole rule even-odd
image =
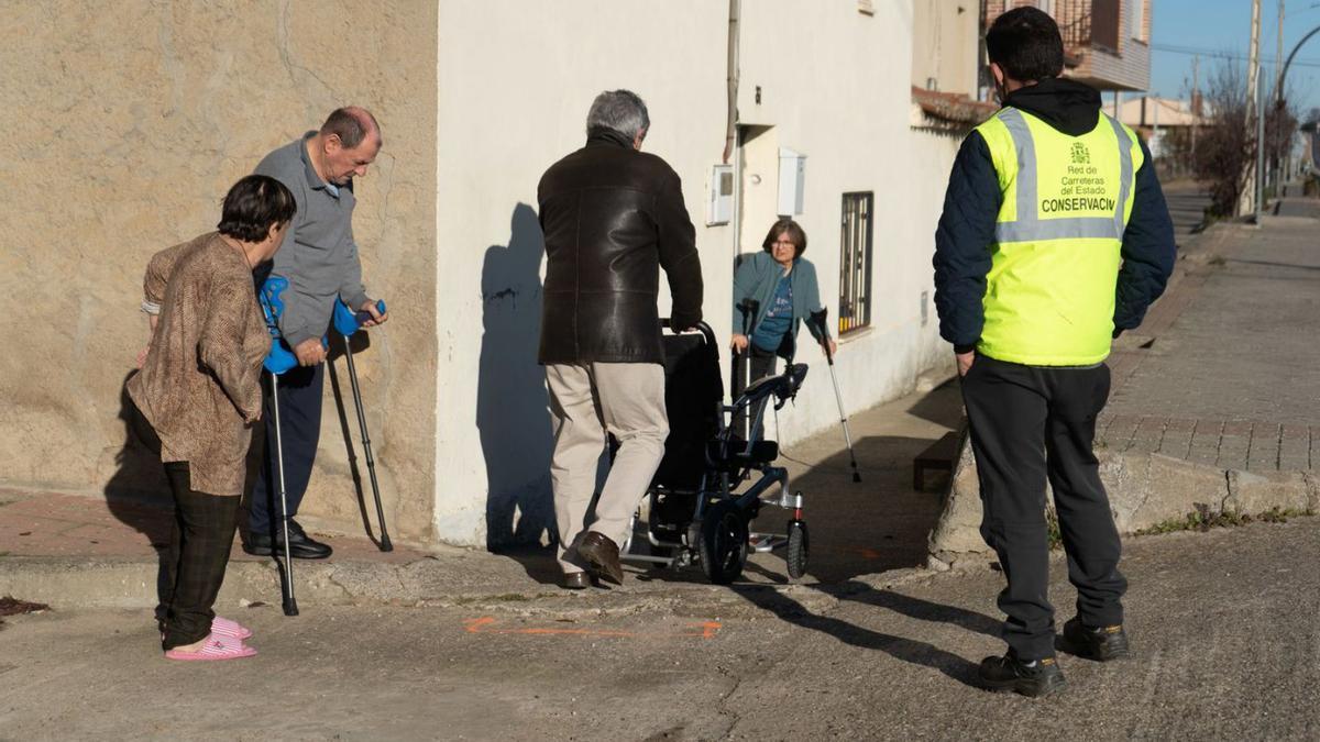
[[[540,363],[554,419],[554,518],[564,586],[586,570],[622,584],[619,541],[669,434],[656,297],[660,268],[671,322],[701,320],[701,261],[677,173],[640,152],[651,120],[627,90],[602,92],[587,114],[586,147],[550,166],[537,187],[545,232]],[[606,432],[619,441],[595,504]]]

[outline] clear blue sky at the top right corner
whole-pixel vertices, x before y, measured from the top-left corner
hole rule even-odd
[[[1251,45],[1251,0],[1150,0],[1151,94],[1185,98],[1191,90],[1192,59],[1201,53],[1200,81],[1224,63],[1225,53],[1245,59]],[[1320,0],[1286,0],[1283,11],[1283,58],[1316,26],[1320,26]],[[1261,0],[1261,54],[1265,79],[1274,79],[1274,55],[1279,38],[1279,0]],[[1272,82],[1270,83],[1272,86]],[[1288,69],[1284,86],[1290,103],[1302,115],[1320,108],[1320,33]]]

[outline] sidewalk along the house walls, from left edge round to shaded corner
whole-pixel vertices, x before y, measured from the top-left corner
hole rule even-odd
[[[829,380],[817,374],[808,383]],[[912,489],[912,458],[960,420],[961,400],[953,384],[854,415],[850,422],[865,479],[861,485],[851,481],[838,429],[781,452],[780,465],[789,469],[793,490],[807,498],[812,556],[804,582],[840,582],[924,564],[925,537],[939,515],[940,496]],[[932,475],[932,482],[939,477]],[[787,511],[763,508],[755,527],[774,531],[787,518]],[[304,524],[331,544],[335,555],[326,561],[294,562],[301,605],[463,605],[561,593],[549,548],[490,553],[396,539],[395,551],[381,553],[362,533],[327,532],[313,519]],[[157,548],[168,543],[169,532],[169,500],[162,492],[124,499],[103,492],[0,489],[0,595],[57,609],[149,607]],[[627,569],[626,590],[636,593],[705,585],[700,569]],[[781,553],[755,555],[744,577],[750,584],[788,582]],[[243,553],[235,540],[219,605],[279,599],[275,562]]]

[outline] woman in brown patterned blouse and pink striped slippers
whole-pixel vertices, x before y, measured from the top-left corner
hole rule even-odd
[[[156,618],[165,656],[228,660],[252,634],[215,615],[243,494],[261,362],[271,335],[252,271],[271,260],[297,206],[279,181],[248,176],[224,197],[218,231],[152,256],[144,312],[152,339],[128,395],[160,441],[174,496]]]

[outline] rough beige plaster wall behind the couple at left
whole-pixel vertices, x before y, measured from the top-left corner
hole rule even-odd
[[[385,148],[358,184],[355,232],[368,289],[393,309],[359,371],[397,531],[428,536],[433,4],[70,0],[4,9],[0,100],[13,125],[0,139],[9,186],[0,290],[12,318],[0,330],[0,482],[160,486],[158,463],[125,449],[121,419],[123,383],[147,342],[139,302],[148,257],[213,230],[224,191],[263,154],[358,103],[379,118]],[[345,462],[327,392],[305,511],[355,528]]]

